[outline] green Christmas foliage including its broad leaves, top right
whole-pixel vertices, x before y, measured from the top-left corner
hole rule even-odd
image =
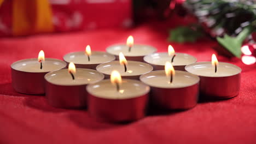
[[[241,57],[243,41],[256,29],[255,0],[187,0],[183,6],[207,26],[207,32],[232,55]],[[221,30],[221,31],[217,31]],[[169,40],[184,43],[200,35],[189,28],[171,31]]]

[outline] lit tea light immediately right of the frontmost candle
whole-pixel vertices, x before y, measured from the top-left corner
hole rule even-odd
[[[174,71],[170,62],[165,70],[141,75],[140,80],[151,88],[153,105],[162,109],[190,109],[197,104],[199,77],[186,71]]]

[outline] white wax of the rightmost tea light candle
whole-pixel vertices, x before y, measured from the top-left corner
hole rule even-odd
[[[234,64],[219,62],[217,66],[217,73],[211,62],[197,62],[189,64],[185,67],[189,73],[207,76],[207,77],[224,77],[232,76],[241,73],[241,68]]]

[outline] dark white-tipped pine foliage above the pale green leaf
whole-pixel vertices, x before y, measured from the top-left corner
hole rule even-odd
[[[237,35],[237,29],[244,28],[246,22],[251,23],[256,19],[254,0],[187,0],[184,6],[199,18],[200,22],[211,21],[207,26],[213,31],[216,28],[223,28],[224,34],[228,35]]]

